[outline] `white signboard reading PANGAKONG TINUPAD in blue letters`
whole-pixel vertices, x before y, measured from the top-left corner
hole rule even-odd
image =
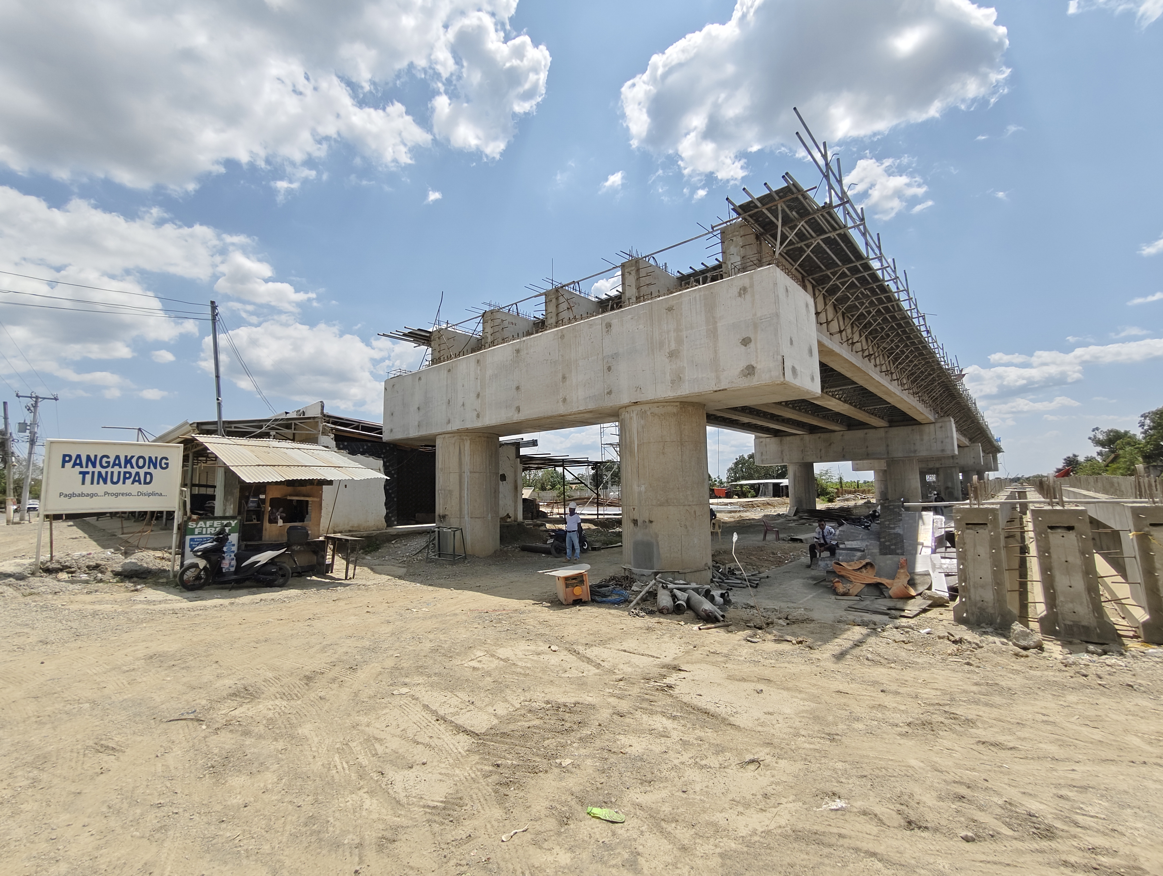
[[[42,514],[176,511],[180,490],[181,444],[44,442]]]

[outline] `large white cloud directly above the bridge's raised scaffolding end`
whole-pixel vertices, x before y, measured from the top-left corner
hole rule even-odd
[[[828,141],[932,119],[1001,87],[994,20],[969,0],[737,0],[622,86],[630,141],[735,180],[743,154],[795,148],[793,106]]]

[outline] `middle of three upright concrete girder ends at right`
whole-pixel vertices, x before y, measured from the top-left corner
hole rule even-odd
[[[1103,608],[1090,517],[1085,508],[1032,508],[1034,546],[1046,610],[1043,635],[1084,642],[1118,642]]]

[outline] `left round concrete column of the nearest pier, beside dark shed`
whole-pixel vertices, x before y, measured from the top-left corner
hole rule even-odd
[[[436,525],[458,526],[473,556],[501,546],[500,441],[483,432],[436,436]]]

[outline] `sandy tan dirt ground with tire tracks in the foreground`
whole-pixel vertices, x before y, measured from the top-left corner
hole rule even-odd
[[[1158,649],[948,608],[699,632],[420,546],[283,591],[0,577],[0,869],[1163,873]]]

